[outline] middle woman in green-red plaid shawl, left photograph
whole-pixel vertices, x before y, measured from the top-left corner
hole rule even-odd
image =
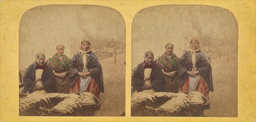
[[[48,64],[54,70],[56,76],[56,92],[57,93],[69,93],[69,62],[71,59],[64,54],[64,45],[59,44],[56,47],[57,53],[48,60]]]

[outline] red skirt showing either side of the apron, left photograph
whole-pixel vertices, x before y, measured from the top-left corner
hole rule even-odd
[[[74,83],[73,87],[69,89],[69,93],[79,94],[80,90],[80,78],[77,79],[76,83]],[[99,99],[99,94],[101,91],[96,83],[96,80],[92,78],[88,84],[86,92],[92,93],[96,98]]]

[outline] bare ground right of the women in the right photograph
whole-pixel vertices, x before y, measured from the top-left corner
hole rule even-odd
[[[237,64],[228,63],[229,60],[237,59],[235,57],[230,59],[219,57],[212,60],[214,92],[209,94],[210,109],[204,111],[205,116],[238,116]]]

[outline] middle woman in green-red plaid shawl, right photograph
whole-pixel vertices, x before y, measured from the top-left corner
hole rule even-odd
[[[178,93],[178,62],[179,57],[173,53],[173,44],[167,43],[165,44],[165,52],[162,54],[158,60],[157,64],[163,70],[164,79],[165,79],[165,92]]]

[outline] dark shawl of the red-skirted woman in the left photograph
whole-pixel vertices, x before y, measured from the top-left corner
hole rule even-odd
[[[104,93],[101,63],[93,52],[90,51],[87,53],[87,55],[87,69],[91,76],[96,80],[96,83],[101,92]],[[73,55],[71,62],[69,63],[69,87],[73,87],[74,83],[77,81],[77,78],[79,78],[77,72],[83,72],[83,57],[79,52]]]

